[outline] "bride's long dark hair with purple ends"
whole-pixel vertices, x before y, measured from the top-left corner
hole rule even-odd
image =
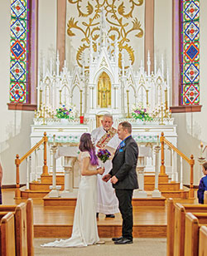
[[[99,165],[98,157],[95,154],[95,148],[91,141],[91,135],[89,133],[84,133],[81,135],[79,139],[79,150],[82,152],[89,152],[91,165]]]

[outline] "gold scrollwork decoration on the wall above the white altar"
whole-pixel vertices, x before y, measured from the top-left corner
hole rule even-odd
[[[125,13],[126,7],[124,2],[129,4],[129,12]],[[104,8],[105,20],[108,24],[108,38],[110,39],[110,47],[113,47],[112,54],[114,54],[115,40],[118,41],[118,66],[122,68],[122,56],[123,51],[128,53],[128,58],[131,64],[134,63],[134,50],[129,45],[130,40],[128,35],[131,32],[137,31],[136,37],[143,37],[142,24],[137,20],[137,17],[133,17],[133,11],[136,7],[142,5],[143,0],[125,0],[123,2],[119,0],[68,0],[71,4],[76,4],[79,12],[79,17],[84,17],[85,22],[75,21],[75,17],[71,17],[67,24],[67,33],[70,37],[75,36],[74,29],[83,33],[81,39],[82,45],[79,46],[76,54],[76,60],[79,66],[85,66],[83,62],[84,51],[89,51],[90,40],[94,52],[97,52],[97,42],[100,38],[100,17]],[[84,2],[87,4],[84,6]],[[83,11],[87,10],[86,12]],[[128,66],[125,66],[128,68]]]

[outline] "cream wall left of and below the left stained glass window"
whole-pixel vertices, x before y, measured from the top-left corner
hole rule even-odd
[[[10,83],[10,1],[3,1],[0,12],[0,22],[3,24],[0,42],[0,160],[3,168],[2,185],[12,185],[16,183],[15,156],[24,155],[30,148],[33,112],[7,110]],[[21,173],[20,182],[23,183],[25,168],[21,169]]]

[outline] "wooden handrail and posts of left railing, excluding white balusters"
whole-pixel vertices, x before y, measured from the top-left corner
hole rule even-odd
[[[42,137],[42,139],[36,143],[36,145],[34,145],[31,150],[29,150],[25,155],[22,156],[22,158],[19,158],[19,155],[16,155],[16,160],[15,160],[15,165],[16,165],[16,192],[15,192],[15,198],[16,199],[20,199],[21,198],[21,191],[20,191],[20,179],[19,179],[19,169],[20,169],[20,165],[22,164],[22,162],[24,160],[27,160],[28,157],[31,157],[31,154],[37,150],[40,145],[44,145],[44,153],[43,153],[43,157],[44,157],[44,165],[42,167],[43,170],[43,174],[42,175],[48,175],[48,166],[47,166],[47,159],[46,159],[46,143],[47,143],[47,136],[46,136],[46,132],[44,132],[44,136]],[[28,170],[28,163],[27,163],[27,170]],[[27,175],[28,176],[28,175]],[[28,182],[27,182],[28,184]]]

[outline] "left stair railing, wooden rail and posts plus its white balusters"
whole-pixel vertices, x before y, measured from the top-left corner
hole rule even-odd
[[[15,165],[16,165],[16,191],[15,191],[15,198],[20,199],[21,198],[21,191],[20,191],[20,179],[19,179],[19,168],[20,165],[24,160],[26,160],[26,190],[29,190],[29,183],[30,183],[30,172],[31,172],[31,154],[35,153],[35,159],[36,159],[36,150],[39,149],[41,145],[44,146],[43,150],[43,158],[44,158],[44,165],[42,167],[43,175],[48,175],[48,166],[46,161],[46,143],[48,141],[48,138],[46,136],[46,132],[44,132],[44,136],[42,139],[34,145],[31,150],[29,150],[25,155],[22,156],[22,158],[19,158],[19,155],[16,155]],[[35,160],[36,162],[36,160]]]

